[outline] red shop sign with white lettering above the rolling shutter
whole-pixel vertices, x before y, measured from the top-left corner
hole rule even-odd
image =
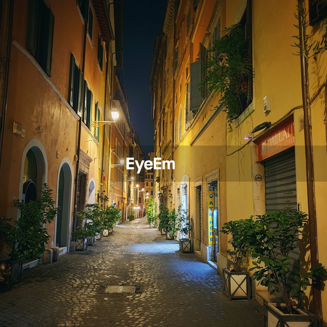
[[[265,160],[295,145],[294,120],[287,120],[258,141],[258,161]]]

